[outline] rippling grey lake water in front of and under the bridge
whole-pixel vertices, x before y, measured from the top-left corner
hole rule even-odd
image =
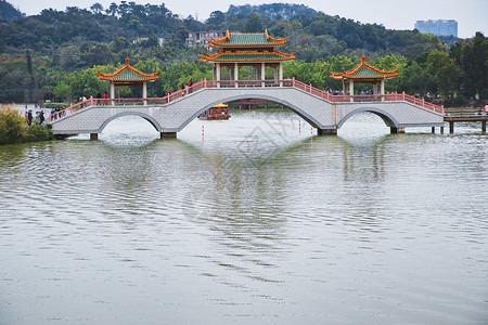
[[[488,323],[479,125],[232,115],[0,146],[0,324]]]

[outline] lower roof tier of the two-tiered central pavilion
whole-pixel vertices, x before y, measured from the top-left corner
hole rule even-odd
[[[215,54],[200,55],[202,62],[246,62],[246,63],[258,63],[258,62],[279,62],[279,61],[290,61],[295,60],[295,53],[287,54],[280,51],[273,52],[223,52],[220,50]]]

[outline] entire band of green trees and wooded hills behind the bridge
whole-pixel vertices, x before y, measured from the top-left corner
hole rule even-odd
[[[472,39],[444,39],[416,30],[390,30],[376,24],[330,16],[303,4],[231,5],[215,11],[205,22],[180,17],[165,4],[115,2],[104,9],[76,6],[52,9],[39,15],[0,23],[0,102],[73,102],[80,96],[108,92],[97,72],[114,73],[126,57],[144,73],[162,70],[147,89],[149,96],[176,91],[190,79],[211,78],[211,66],[200,62],[190,47],[194,31],[259,32],[290,37],[284,52],[297,51],[297,60],[284,65],[284,76],[324,90],[341,90],[329,70],[349,69],[367,56],[381,69],[400,67],[399,77],[386,82],[387,92],[407,92],[437,104],[480,104],[488,96],[488,40],[478,32]],[[271,72],[270,72],[271,73]],[[226,74],[226,73],[224,73]],[[254,79],[243,69],[240,79]],[[224,78],[224,77],[223,77]],[[268,76],[272,78],[272,76]],[[369,90],[358,86],[358,92]],[[117,95],[137,98],[141,89],[119,88]]]

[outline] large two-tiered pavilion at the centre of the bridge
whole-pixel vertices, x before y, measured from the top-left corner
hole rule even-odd
[[[214,80],[220,87],[221,69],[229,67],[230,77],[239,87],[239,68],[243,66],[254,66],[260,69],[261,86],[265,87],[266,67],[274,68],[274,82],[283,80],[283,62],[295,60],[295,53],[287,54],[278,51],[275,48],[286,44],[287,38],[273,38],[268,35],[268,30],[257,34],[229,32],[220,39],[207,39],[208,46],[219,49],[217,53],[200,55],[202,62],[214,64]],[[282,81],[280,81],[282,86]]]

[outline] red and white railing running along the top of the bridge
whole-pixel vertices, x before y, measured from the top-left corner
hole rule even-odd
[[[334,95],[329,91],[323,91],[306,84],[298,80],[284,79],[284,80],[201,80],[194,83],[192,87],[179,90],[164,98],[151,98],[151,99],[90,99],[85,102],[80,102],[73,106],[69,106],[61,112],[56,112],[50,115],[50,121],[63,118],[72,115],[78,110],[81,110],[89,106],[106,106],[106,105],[165,105],[170,102],[177,101],[184,95],[191,94],[206,88],[252,88],[252,87],[292,87],[300,89],[312,95],[319,96],[331,103],[359,103],[359,102],[408,102],[423,108],[444,114],[444,107],[438,106],[423,99],[419,100],[414,96],[403,93],[393,94],[358,94],[358,95]]]

